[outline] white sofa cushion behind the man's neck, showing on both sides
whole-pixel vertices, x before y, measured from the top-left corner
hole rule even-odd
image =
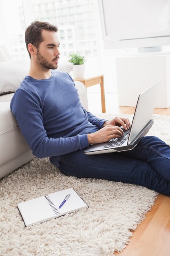
[[[30,60],[17,60],[0,62],[0,95],[7,92],[15,92],[20,82],[28,74]],[[59,62],[58,68],[53,72],[64,71],[70,73],[74,65],[69,62]]]

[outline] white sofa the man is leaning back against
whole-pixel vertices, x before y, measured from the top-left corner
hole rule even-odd
[[[57,70],[69,73],[73,64],[61,62]],[[34,158],[9,107],[13,93],[2,95],[18,88],[28,71],[29,59],[12,61],[7,49],[0,46],[0,178]],[[75,81],[75,86],[82,105],[88,109],[84,84]]]

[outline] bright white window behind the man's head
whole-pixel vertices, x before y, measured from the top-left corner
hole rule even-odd
[[[0,14],[5,17],[5,38],[10,42],[13,58],[28,56],[24,34],[33,20],[47,21],[58,26],[61,43],[63,41],[65,45],[61,48],[63,56],[69,56],[73,49],[84,55],[97,56],[94,0],[0,1],[3,7]]]

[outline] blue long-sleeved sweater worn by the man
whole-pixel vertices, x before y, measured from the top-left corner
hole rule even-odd
[[[87,133],[102,128],[106,121],[82,107],[74,81],[60,71],[49,79],[26,76],[10,108],[33,155],[58,156],[58,161],[61,155],[88,147]]]

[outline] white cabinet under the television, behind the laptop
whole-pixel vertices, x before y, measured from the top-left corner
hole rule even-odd
[[[157,79],[162,84],[156,108],[170,106],[170,53],[137,53],[116,58],[119,106],[136,106],[138,96]]]

